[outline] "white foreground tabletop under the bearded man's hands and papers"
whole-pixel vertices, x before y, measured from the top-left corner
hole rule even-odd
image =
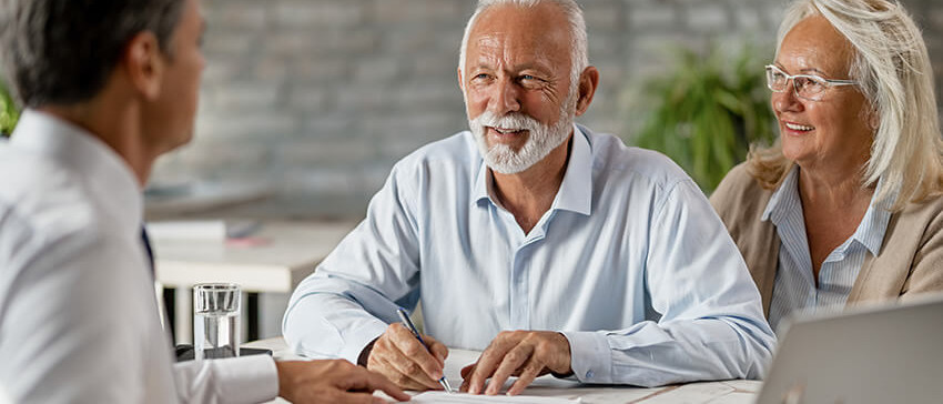
[[[303,360],[288,351],[281,337],[246,343],[246,347],[264,347],[272,350],[276,360]],[[445,375],[453,387],[462,385],[459,371],[463,366],[474,363],[480,353],[476,351],[452,350],[445,361]],[[761,382],[757,381],[723,381],[689,383],[656,388],[628,386],[584,385],[576,382],[543,376],[534,381],[524,395],[579,398],[585,404],[751,404],[757,400]],[[273,403],[285,403],[275,400]]]

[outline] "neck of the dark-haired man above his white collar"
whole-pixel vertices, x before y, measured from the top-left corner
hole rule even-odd
[[[138,183],[144,188],[158,153],[144,141],[136,124],[140,115],[134,103],[111,102],[99,97],[74,105],[42,107],[39,111],[82,128],[101,140],[128,163]]]

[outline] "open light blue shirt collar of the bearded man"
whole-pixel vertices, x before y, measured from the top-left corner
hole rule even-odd
[[[472,192],[472,203],[489,201],[495,206],[494,180],[491,170],[484,160],[478,169]],[[574,124],[572,149],[570,150],[567,172],[560,183],[560,190],[554,199],[550,210],[564,210],[589,215],[592,212],[592,148],[584,131]]]

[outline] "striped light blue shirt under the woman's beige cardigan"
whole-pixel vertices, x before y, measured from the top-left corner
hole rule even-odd
[[[779,234],[779,264],[770,302],[770,325],[779,333],[781,322],[795,311],[840,310],[844,307],[858,272],[870,253],[881,252],[884,232],[891,220],[893,198],[879,203],[883,180],[861,223],[848,240],[829,253],[819,270],[819,285],[812,272],[812,255],[805,235],[802,201],[799,199],[799,166],[794,166],[770,198],[761,220],[769,220]]]

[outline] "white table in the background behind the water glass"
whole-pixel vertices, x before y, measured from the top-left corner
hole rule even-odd
[[[267,222],[252,234],[260,242],[257,245],[154,240],[156,280],[165,287],[176,289],[173,309],[178,313],[176,341],[191,340],[193,284],[232,282],[251,293],[290,293],[355,225],[353,222]]]

